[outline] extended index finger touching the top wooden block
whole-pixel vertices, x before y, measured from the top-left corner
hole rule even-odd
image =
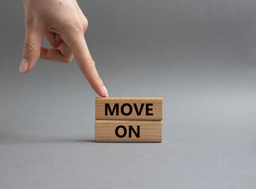
[[[77,65],[81,69],[85,78],[90,83],[96,93],[102,97],[108,97],[107,88],[104,86],[103,81],[96,70],[95,62],[88,50],[87,43],[85,42],[85,36],[83,34],[72,35],[67,34],[67,43],[73,52],[73,56],[77,61]]]

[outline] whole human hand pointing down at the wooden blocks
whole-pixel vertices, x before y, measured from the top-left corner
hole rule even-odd
[[[24,0],[25,39],[20,72],[29,72],[39,58],[69,63],[73,57],[96,93],[107,88],[96,70],[84,33],[88,20],[76,0]],[[43,36],[52,49],[42,47]]]

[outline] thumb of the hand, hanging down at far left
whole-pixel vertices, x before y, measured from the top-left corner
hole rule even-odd
[[[36,65],[40,57],[42,40],[43,30],[30,26],[26,28],[20,72],[29,72]]]

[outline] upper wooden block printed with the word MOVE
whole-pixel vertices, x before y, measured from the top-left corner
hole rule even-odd
[[[96,98],[96,120],[162,120],[163,98]]]

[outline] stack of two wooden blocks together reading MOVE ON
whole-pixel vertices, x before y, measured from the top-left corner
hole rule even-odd
[[[162,142],[163,98],[96,98],[96,142]]]

